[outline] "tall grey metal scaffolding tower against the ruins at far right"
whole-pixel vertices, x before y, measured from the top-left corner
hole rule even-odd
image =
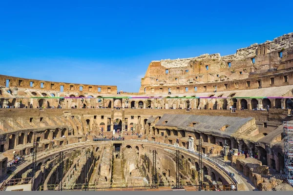
[[[293,121],[284,121],[284,160],[288,183],[293,186]]]

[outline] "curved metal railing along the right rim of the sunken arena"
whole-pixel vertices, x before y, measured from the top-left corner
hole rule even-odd
[[[173,148],[176,148],[176,149],[179,149],[179,150],[184,150],[188,153],[191,153],[193,155],[196,155],[196,156],[199,156],[199,153],[198,152],[195,152],[195,151],[191,151],[191,150],[188,150],[186,148],[183,148],[183,147],[180,147],[180,146],[174,146],[174,145],[171,145],[171,144],[167,144],[167,143],[160,143],[160,142],[156,142],[156,141],[149,141],[149,140],[140,140],[140,139],[131,139],[131,141],[140,141],[140,142],[147,142],[147,143],[154,143],[154,144],[159,144],[159,145],[165,145],[165,146],[168,146],[168,147],[173,147]],[[228,176],[230,176],[230,178],[237,184],[237,183],[244,183],[242,181],[242,179],[240,179],[239,176],[237,175],[232,175],[230,170],[228,170],[226,167],[224,167],[221,163],[223,162],[219,162],[219,160],[217,159],[212,159],[212,158],[209,158],[207,156],[203,156],[203,159],[206,159],[208,160],[209,162],[217,165],[220,169],[222,169],[226,174],[228,174]]]

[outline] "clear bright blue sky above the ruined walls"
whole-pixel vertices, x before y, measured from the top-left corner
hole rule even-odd
[[[233,54],[293,32],[293,1],[0,2],[0,74],[138,92],[151,60]]]

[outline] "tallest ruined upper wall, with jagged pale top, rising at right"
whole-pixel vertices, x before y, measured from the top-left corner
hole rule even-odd
[[[204,54],[188,59],[152,61],[141,80],[140,92],[149,86],[178,86],[245,79],[268,71],[293,67],[293,33],[241,48],[233,55]]]

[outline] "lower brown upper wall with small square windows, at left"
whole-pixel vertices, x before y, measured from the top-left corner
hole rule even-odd
[[[8,80],[7,80],[8,79]],[[7,84],[6,81],[9,83]],[[59,91],[63,86],[63,92],[88,92],[95,94],[117,94],[117,86],[111,85],[87,85],[87,84],[74,84],[65,82],[52,82],[28,78],[10,77],[0,75],[0,87],[17,87],[25,89],[47,90],[47,91]],[[80,90],[82,87],[82,90]]]

